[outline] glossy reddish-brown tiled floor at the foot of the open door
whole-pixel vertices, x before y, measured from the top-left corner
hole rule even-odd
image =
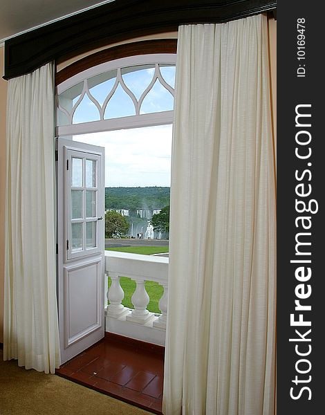
[[[163,347],[106,333],[55,373],[154,414],[161,414]]]

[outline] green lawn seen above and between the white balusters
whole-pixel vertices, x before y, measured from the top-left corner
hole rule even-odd
[[[119,252],[131,252],[133,254],[152,255],[168,252],[168,246],[129,246],[126,248],[106,248],[106,250],[114,250]],[[124,291],[124,299],[122,304],[124,307],[134,308],[131,303],[131,297],[136,290],[136,282],[128,277],[120,277],[120,284]],[[111,286],[111,278],[109,277],[109,287]],[[158,302],[163,295],[164,288],[158,282],[146,281],[145,288],[150,298],[147,309],[151,313],[161,313]]]

